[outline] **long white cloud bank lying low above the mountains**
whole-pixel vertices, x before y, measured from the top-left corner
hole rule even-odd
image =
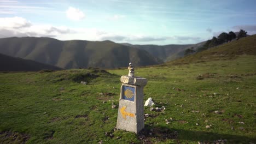
[[[124,34],[100,31],[96,28],[68,28],[64,26],[35,25],[22,17],[0,18],[0,38],[5,37],[51,37],[60,40],[112,40],[117,43],[137,44],[166,44],[174,43],[197,43],[199,37],[177,35],[172,37]]]

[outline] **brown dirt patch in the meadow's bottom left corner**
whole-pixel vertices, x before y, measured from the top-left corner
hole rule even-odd
[[[27,134],[18,132],[2,131],[0,132],[1,143],[26,143],[30,139]]]

